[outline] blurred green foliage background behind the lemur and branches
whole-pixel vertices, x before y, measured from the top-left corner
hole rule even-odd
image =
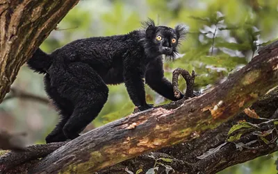
[[[156,24],[174,27],[186,24],[188,35],[180,47],[181,56],[165,62],[165,76],[171,80],[177,67],[195,70],[195,89],[204,90],[223,80],[256,55],[259,46],[278,38],[277,0],[87,0],[80,1],[60,22],[56,31],[40,46],[51,53],[68,42],[83,37],[120,35],[141,27],[150,17]],[[19,92],[47,98],[43,76],[24,65],[13,84]],[[180,79],[180,89],[186,87]],[[124,85],[109,86],[109,98],[101,113],[85,131],[98,127],[134,109]],[[147,102],[170,101],[146,87]],[[15,94],[15,93],[14,93]],[[30,98],[13,97],[0,105],[0,128],[28,133],[28,143],[44,143],[44,137],[58,122],[51,104]],[[227,168],[221,173],[277,173],[277,154],[260,157]]]

